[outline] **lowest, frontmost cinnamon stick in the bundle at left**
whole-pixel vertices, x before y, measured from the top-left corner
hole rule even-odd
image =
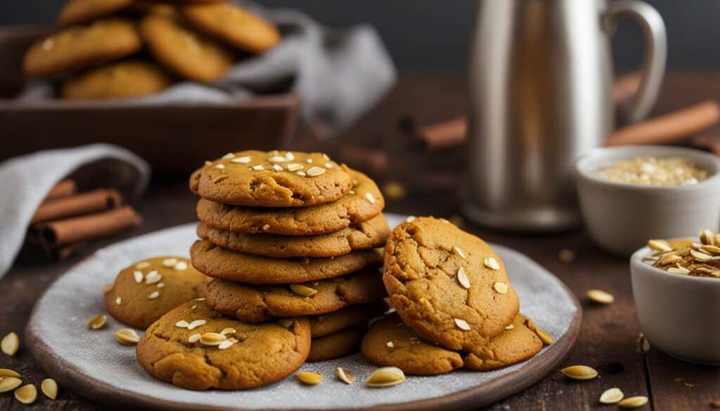
[[[140,224],[140,216],[130,206],[122,206],[96,214],[40,223],[34,230],[48,248],[80,243],[130,229]]]

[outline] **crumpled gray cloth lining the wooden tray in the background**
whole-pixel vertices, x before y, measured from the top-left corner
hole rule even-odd
[[[276,48],[238,61],[214,83],[185,81],[123,103],[226,104],[261,91],[287,89],[289,84],[301,96],[302,117],[331,134],[351,125],[395,83],[395,66],[373,27],[330,29],[293,10],[245,5],[280,27],[283,37]],[[53,97],[55,90],[48,81],[35,81],[19,99]]]

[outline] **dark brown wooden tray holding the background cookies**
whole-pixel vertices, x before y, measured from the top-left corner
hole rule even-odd
[[[112,143],[145,158],[153,171],[187,175],[235,150],[288,148],[297,125],[297,94],[270,94],[222,105],[139,107],[119,100],[17,104],[22,55],[42,27],[0,29],[0,161],[14,155],[89,143]]]

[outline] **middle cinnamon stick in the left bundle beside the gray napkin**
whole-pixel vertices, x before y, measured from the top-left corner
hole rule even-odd
[[[30,224],[101,212],[118,207],[121,203],[122,197],[114,189],[97,189],[71,197],[51,199],[40,204]]]

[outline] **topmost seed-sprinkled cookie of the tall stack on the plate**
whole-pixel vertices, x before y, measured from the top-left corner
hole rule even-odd
[[[251,207],[307,207],[334,202],[352,179],[323,153],[246,150],[208,161],[190,176],[204,199]]]

